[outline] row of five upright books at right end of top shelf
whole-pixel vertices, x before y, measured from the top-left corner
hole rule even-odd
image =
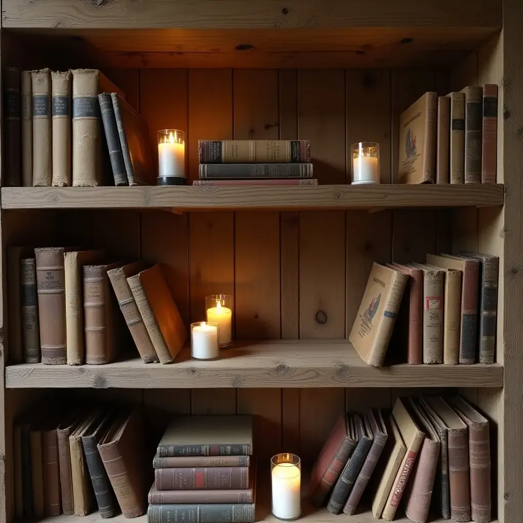
[[[469,86],[428,92],[400,116],[399,181],[405,184],[495,184],[497,91]]]

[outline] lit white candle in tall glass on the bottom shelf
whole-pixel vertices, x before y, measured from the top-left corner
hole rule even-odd
[[[296,454],[276,454],[270,460],[272,514],[289,521],[301,514],[301,460]]]

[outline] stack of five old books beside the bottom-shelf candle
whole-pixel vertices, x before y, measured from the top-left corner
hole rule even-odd
[[[255,521],[251,416],[180,416],[153,460],[149,523]]]

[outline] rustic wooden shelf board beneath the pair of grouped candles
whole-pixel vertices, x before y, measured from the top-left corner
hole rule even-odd
[[[393,350],[393,349],[391,349]],[[190,359],[184,349],[172,365],[141,359],[104,366],[6,367],[7,388],[241,388],[241,387],[437,387],[503,386],[494,365],[408,365],[376,368],[345,340],[237,342],[216,361]]]

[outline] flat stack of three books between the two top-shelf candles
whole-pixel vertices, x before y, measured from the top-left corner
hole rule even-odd
[[[200,140],[200,179],[206,185],[318,185],[309,140]]]

